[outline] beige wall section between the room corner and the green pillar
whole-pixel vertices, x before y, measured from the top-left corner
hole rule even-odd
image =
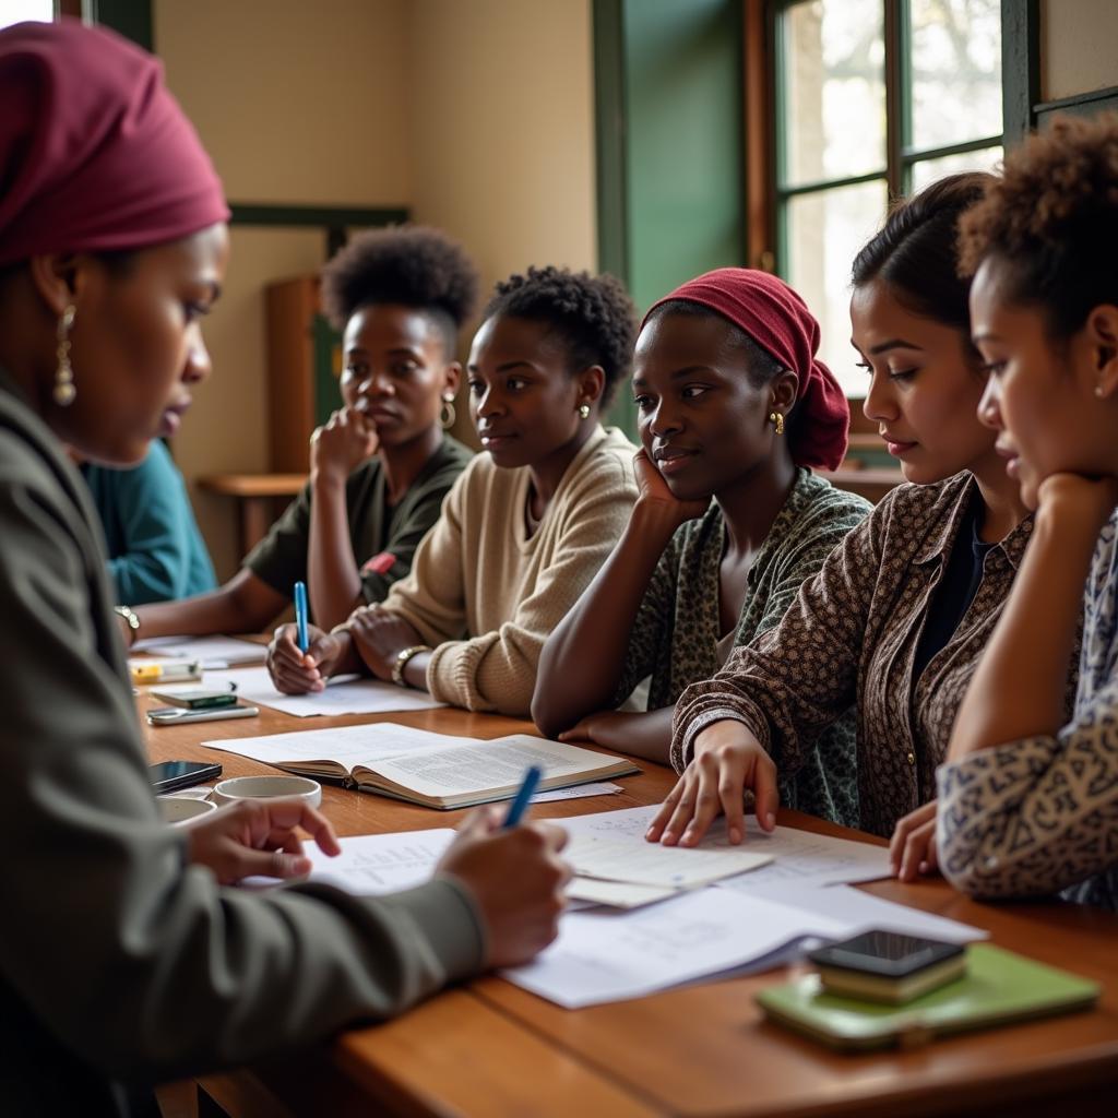
[[[413,206],[486,285],[529,264],[593,268],[590,0],[414,0]]]

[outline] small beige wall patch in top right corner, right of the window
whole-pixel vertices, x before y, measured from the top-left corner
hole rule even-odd
[[[1118,85],[1118,2],[1042,0],[1041,96],[1059,101]]]

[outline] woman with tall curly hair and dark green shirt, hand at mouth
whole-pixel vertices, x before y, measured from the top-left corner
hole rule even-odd
[[[476,294],[470,257],[437,229],[354,237],[322,273],[326,314],[343,331],[344,407],[311,438],[306,487],[228,582],[136,609],[127,638],[257,632],[296,581],[325,628],[382,600],[471,457],[440,417],[453,415],[457,334]]]

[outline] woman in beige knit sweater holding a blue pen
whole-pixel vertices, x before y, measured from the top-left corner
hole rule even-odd
[[[276,686],[371,672],[468,710],[524,717],[548,634],[620,537],[634,447],[598,416],[628,370],[633,304],[610,276],[530,268],[498,284],[466,375],[482,446],[407,579],[340,629],[276,633]]]

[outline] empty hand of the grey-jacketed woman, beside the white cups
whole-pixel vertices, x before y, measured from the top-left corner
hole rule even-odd
[[[190,862],[222,885],[243,878],[301,878],[311,861],[295,833],[302,827],[331,856],[341,853],[333,827],[301,799],[245,799],[183,824]]]

